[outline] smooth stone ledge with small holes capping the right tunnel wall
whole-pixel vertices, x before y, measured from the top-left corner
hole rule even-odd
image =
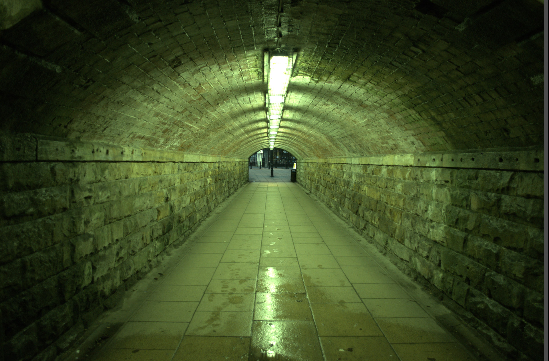
[[[481,168],[544,171],[544,149],[385,154],[369,157],[306,158],[299,163],[424,166],[433,168]]]

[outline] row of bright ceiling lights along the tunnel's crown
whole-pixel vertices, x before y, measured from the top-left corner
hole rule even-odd
[[[280,129],[282,120],[282,110],[284,107],[284,99],[290,76],[292,76],[292,66],[294,63],[293,54],[272,55],[269,56],[265,52],[266,63],[268,61],[268,83],[267,83],[267,122],[268,122],[268,137],[269,148],[275,148],[276,136]],[[266,70],[267,70],[266,69]]]

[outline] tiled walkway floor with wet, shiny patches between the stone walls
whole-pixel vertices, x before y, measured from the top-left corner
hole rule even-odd
[[[97,361],[475,358],[289,182],[245,186]]]

